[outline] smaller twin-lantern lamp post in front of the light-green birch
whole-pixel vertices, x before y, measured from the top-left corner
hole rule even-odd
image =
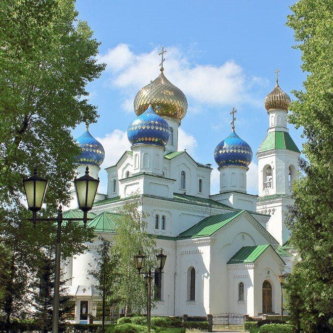
[[[161,253],[156,255],[157,267],[159,268],[159,272],[152,272],[151,268],[149,268],[148,272],[141,272],[145,259],[146,256],[142,254],[137,254],[134,256],[135,267],[138,270],[139,274],[144,274],[143,280],[147,287],[147,327],[148,327],[148,333],[150,333],[151,311],[152,311],[151,293],[152,293],[153,276],[155,274],[162,274],[162,270],[166,263],[167,255],[163,254],[163,249],[161,249]]]

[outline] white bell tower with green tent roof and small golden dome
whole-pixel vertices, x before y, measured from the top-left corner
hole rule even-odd
[[[271,215],[267,229],[283,245],[290,237],[285,225],[287,207],[293,204],[291,183],[297,177],[300,151],[288,129],[287,114],[291,99],[276,85],[265,97],[268,113],[267,135],[256,153],[258,159],[257,212]]]

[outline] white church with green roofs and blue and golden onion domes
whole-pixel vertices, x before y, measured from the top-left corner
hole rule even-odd
[[[294,256],[284,246],[289,239],[285,212],[292,205],[291,182],[300,152],[288,129],[291,100],[276,82],[265,97],[267,136],[257,150],[258,196],[247,194],[250,146],[232,131],[211,147],[220,172],[220,191],[210,193],[211,166],[178,151],[178,130],[187,111],[183,92],[161,73],[144,86],[134,100],[136,118],[128,127],[131,150],[106,168],[106,194],[97,194],[89,212],[96,243],[63,263],[68,290],[76,303],[76,322],[96,315],[101,297],[88,277],[94,263],[98,236],[112,239],[114,217],[133,193],[140,209],[149,214],[148,233],[167,254],[153,314],[206,316],[237,312],[250,316],[280,313],[278,275],[290,271]],[[97,178],[104,159],[102,145],[88,128],[77,139],[78,176],[89,167]],[[113,147],[104,147],[113,149]],[[76,200],[64,217],[79,216]]]

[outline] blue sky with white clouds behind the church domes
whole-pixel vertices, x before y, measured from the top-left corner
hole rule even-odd
[[[275,84],[291,94],[300,89],[304,74],[293,31],[286,26],[294,1],[77,0],[79,17],[102,42],[99,53],[107,69],[89,84],[91,103],[100,118],[90,132],[106,151],[102,168],[114,164],[129,147],[125,131],[135,117],[136,92],[159,75],[158,50],[167,49],[165,75],[186,94],[189,109],[181,124],[180,148],[201,163],[211,163],[215,146],[230,133],[230,109],[236,107],[236,132],[253,151],[248,190],[257,193],[255,152],[268,127],[263,99]],[[73,135],[84,130],[78,126]],[[290,125],[301,148],[301,130]],[[212,192],[218,190],[213,171]],[[100,190],[106,173],[100,173]]]

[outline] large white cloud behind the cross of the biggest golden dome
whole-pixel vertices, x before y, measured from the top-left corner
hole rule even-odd
[[[136,92],[158,74],[159,49],[135,54],[127,44],[119,44],[99,57],[111,72],[110,84],[124,93],[125,110],[132,110]],[[250,88],[263,85],[258,77],[247,77],[243,68],[233,60],[220,66],[192,64],[177,47],[167,47],[165,75],[189,99],[200,105],[234,105],[256,103]],[[130,100],[130,103],[128,102]],[[192,105],[193,107],[193,105]]]

